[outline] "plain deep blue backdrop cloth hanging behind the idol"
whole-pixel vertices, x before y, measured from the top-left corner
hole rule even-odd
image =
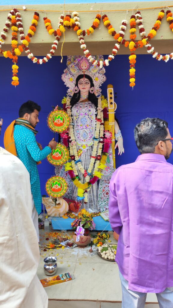
[[[107,58],[107,56],[105,56]],[[46,119],[52,106],[61,106],[61,100],[66,95],[67,88],[61,80],[66,68],[66,57],[60,63],[61,57],[54,56],[46,64],[37,65],[27,57],[19,57],[19,85],[11,85],[12,62],[10,59],[0,58],[1,72],[1,102],[0,117],[3,118],[0,146],[3,146],[3,135],[7,126],[18,118],[18,110],[28,99],[41,105],[39,113],[38,134],[36,140],[45,147],[54,137],[54,133],[47,127]],[[167,63],[157,61],[152,55],[137,55],[136,86],[132,90],[129,86],[128,55],[117,55],[106,67],[106,82],[102,85],[102,93],[107,96],[107,85],[113,84],[117,98],[116,117],[119,120],[123,135],[125,153],[116,155],[116,167],[133,162],[139,155],[134,140],[134,127],[140,120],[147,117],[159,117],[167,120],[171,136],[173,136],[173,99],[172,99],[172,69],[173,61]],[[55,134],[55,139],[58,137]],[[118,154],[118,151],[116,151]],[[173,154],[168,160],[173,163]],[[54,175],[54,166],[47,160],[38,165],[42,194],[45,183]]]

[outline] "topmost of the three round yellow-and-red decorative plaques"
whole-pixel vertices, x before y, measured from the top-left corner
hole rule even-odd
[[[51,111],[47,118],[51,131],[61,133],[69,126],[69,117],[64,110]]]

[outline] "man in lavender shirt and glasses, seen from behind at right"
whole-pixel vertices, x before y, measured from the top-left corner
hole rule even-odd
[[[166,161],[173,138],[159,118],[142,120],[134,133],[141,155],[119,167],[110,181],[122,307],[143,308],[151,292],[159,307],[173,308],[173,165]]]

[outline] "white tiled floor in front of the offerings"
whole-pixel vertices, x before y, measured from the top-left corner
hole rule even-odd
[[[44,231],[41,230],[44,234]],[[116,241],[111,236],[111,243]],[[42,244],[44,237],[40,243]],[[115,262],[100,258],[95,251],[84,249],[59,249],[41,252],[38,268],[39,279],[45,278],[43,270],[44,257],[56,256],[57,274],[69,272],[74,280],[46,287],[49,308],[120,308],[122,299],[119,270]],[[57,253],[59,255],[57,256]],[[65,300],[65,301],[59,301]],[[114,302],[114,303],[111,303]],[[155,294],[147,295],[147,302],[156,303]],[[146,304],[146,308],[158,308],[158,304]]]

